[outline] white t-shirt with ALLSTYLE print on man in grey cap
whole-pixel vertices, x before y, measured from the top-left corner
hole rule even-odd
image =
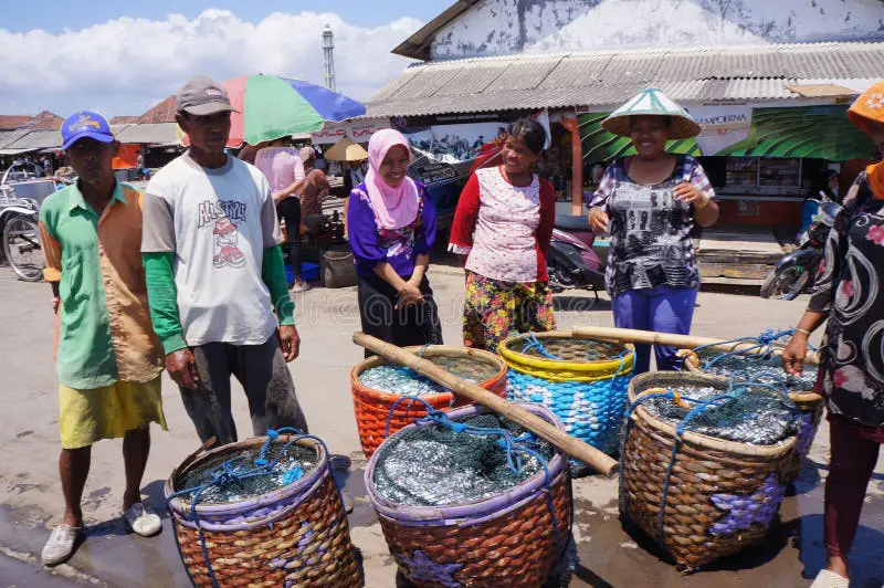
[[[277,322],[261,270],[264,249],[283,237],[257,168],[230,156],[218,169],[178,157],[147,187],[143,235],[143,252],[175,253],[189,346],[261,345],[273,335]]]

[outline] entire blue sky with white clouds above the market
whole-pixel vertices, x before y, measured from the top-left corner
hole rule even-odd
[[[453,0],[0,1],[0,114],[138,115],[196,74],[323,83],[335,31],[338,91],[366,99],[411,61],[392,50]]]

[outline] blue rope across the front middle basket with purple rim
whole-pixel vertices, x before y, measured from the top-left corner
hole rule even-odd
[[[385,430],[383,438],[387,439],[390,437],[390,421],[393,417],[393,411],[399,402],[403,400],[418,401],[424,406],[427,409],[427,417],[421,419],[415,419],[415,422],[419,420],[429,420],[432,421],[434,424],[440,427],[444,427],[454,431],[455,434],[466,433],[472,434],[475,437],[499,437],[496,443],[506,452],[506,462],[509,470],[514,473],[522,473],[524,468],[522,460],[519,459],[518,454],[524,453],[537,460],[537,463],[544,469],[544,494],[546,495],[546,503],[547,508],[549,510],[549,516],[552,519],[552,531],[556,534],[556,547],[559,550],[559,557],[561,554],[567,549],[567,543],[561,540],[561,533],[559,531],[559,522],[558,517],[556,516],[556,505],[552,503],[552,480],[549,475],[549,465],[547,461],[540,455],[538,452],[534,451],[530,448],[519,447],[519,443],[528,443],[537,440],[534,433],[530,431],[525,431],[525,434],[522,437],[513,438],[513,435],[506,431],[505,429],[499,428],[482,428],[482,427],[472,427],[470,424],[463,422],[455,422],[449,418],[449,416],[442,410],[435,410],[433,407],[422,398],[415,396],[403,396],[402,398],[398,399],[393,402],[393,406],[390,407],[390,412],[387,414],[387,429]],[[409,408],[411,405],[409,405]]]

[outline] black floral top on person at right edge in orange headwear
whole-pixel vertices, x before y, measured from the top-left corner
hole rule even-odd
[[[825,242],[808,308],[829,314],[821,367],[829,410],[884,427],[884,200],[865,171]]]

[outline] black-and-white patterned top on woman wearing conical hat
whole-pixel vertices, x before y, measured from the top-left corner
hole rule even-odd
[[[690,182],[715,198],[703,166],[693,157],[680,156],[672,176],[645,186],[629,177],[631,160],[617,159],[608,166],[589,203],[611,219],[611,249],[604,272],[608,294],[613,298],[629,290],[698,287],[694,207],[676,200],[674,189]]]

